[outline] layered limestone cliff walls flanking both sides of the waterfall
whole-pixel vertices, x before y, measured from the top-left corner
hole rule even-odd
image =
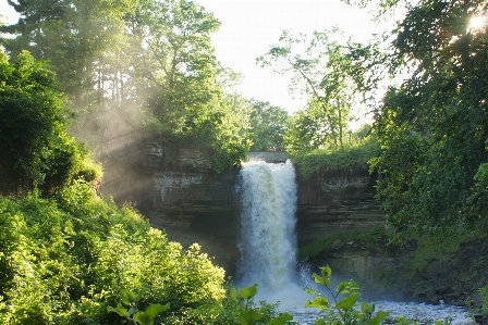
[[[171,240],[200,243],[234,274],[237,168],[216,174],[205,149],[171,143],[151,133],[111,139],[101,147],[99,159],[105,166],[102,195],[119,204],[131,202]],[[366,166],[296,177],[298,243],[382,224],[383,214],[373,198],[376,178]]]

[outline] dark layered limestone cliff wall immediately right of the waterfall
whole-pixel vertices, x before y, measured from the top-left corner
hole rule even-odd
[[[376,178],[367,165],[322,170],[308,178],[298,173],[298,242],[382,226],[385,212],[374,198]]]

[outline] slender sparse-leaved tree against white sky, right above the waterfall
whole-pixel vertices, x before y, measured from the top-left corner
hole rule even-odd
[[[279,45],[257,59],[261,66],[272,66],[276,73],[292,74],[291,89],[301,88],[309,96],[307,110],[310,112],[298,115],[314,116],[312,120],[320,122],[315,128],[321,129],[322,142],[316,146],[332,148],[343,146],[343,129],[350,121],[358,82],[354,78],[357,76],[354,62],[347,54],[350,41],[342,45],[335,40],[338,37],[343,35],[337,28],[314,32],[309,40],[303,34],[293,36],[284,30]],[[317,115],[317,110],[321,110],[324,118]]]

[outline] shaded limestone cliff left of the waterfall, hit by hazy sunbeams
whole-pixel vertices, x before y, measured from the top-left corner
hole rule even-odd
[[[105,168],[103,196],[135,205],[152,226],[166,229],[170,240],[184,247],[198,242],[233,273],[239,170],[218,175],[205,149],[171,143],[152,133],[111,139],[98,155]]]

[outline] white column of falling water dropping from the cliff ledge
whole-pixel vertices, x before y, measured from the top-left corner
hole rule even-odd
[[[237,192],[241,238],[237,283],[278,293],[297,283],[296,183],[293,164],[244,163]]]

